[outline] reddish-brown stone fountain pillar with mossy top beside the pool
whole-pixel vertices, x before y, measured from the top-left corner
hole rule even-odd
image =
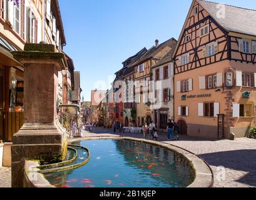
[[[24,65],[24,126],[13,137],[12,186],[23,187],[25,159],[65,156],[66,136],[56,123],[56,102],[58,71],[67,65],[64,54],[51,44],[26,44],[13,56]]]

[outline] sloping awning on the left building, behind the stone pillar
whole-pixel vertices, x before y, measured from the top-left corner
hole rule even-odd
[[[23,64],[13,58],[11,51],[18,51],[18,49],[0,36],[0,64],[9,67],[23,66]]]

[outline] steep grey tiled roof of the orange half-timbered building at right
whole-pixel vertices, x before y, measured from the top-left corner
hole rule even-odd
[[[217,2],[197,0],[197,2],[227,31],[256,36],[256,11],[225,5],[225,17],[218,17]]]

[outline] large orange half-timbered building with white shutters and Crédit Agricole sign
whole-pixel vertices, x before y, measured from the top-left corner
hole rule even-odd
[[[237,138],[255,124],[256,11],[194,0],[173,56],[175,120],[191,136]]]

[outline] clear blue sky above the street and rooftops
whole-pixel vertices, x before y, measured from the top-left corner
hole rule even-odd
[[[192,0],[59,0],[67,45],[64,51],[81,71],[82,96],[108,87],[121,63],[155,39],[178,39]],[[215,1],[216,2],[216,1]],[[256,9],[255,0],[218,0]],[[98,81],[105,81],[100,84]],[[96,84],[98,83],[98,84]]]

